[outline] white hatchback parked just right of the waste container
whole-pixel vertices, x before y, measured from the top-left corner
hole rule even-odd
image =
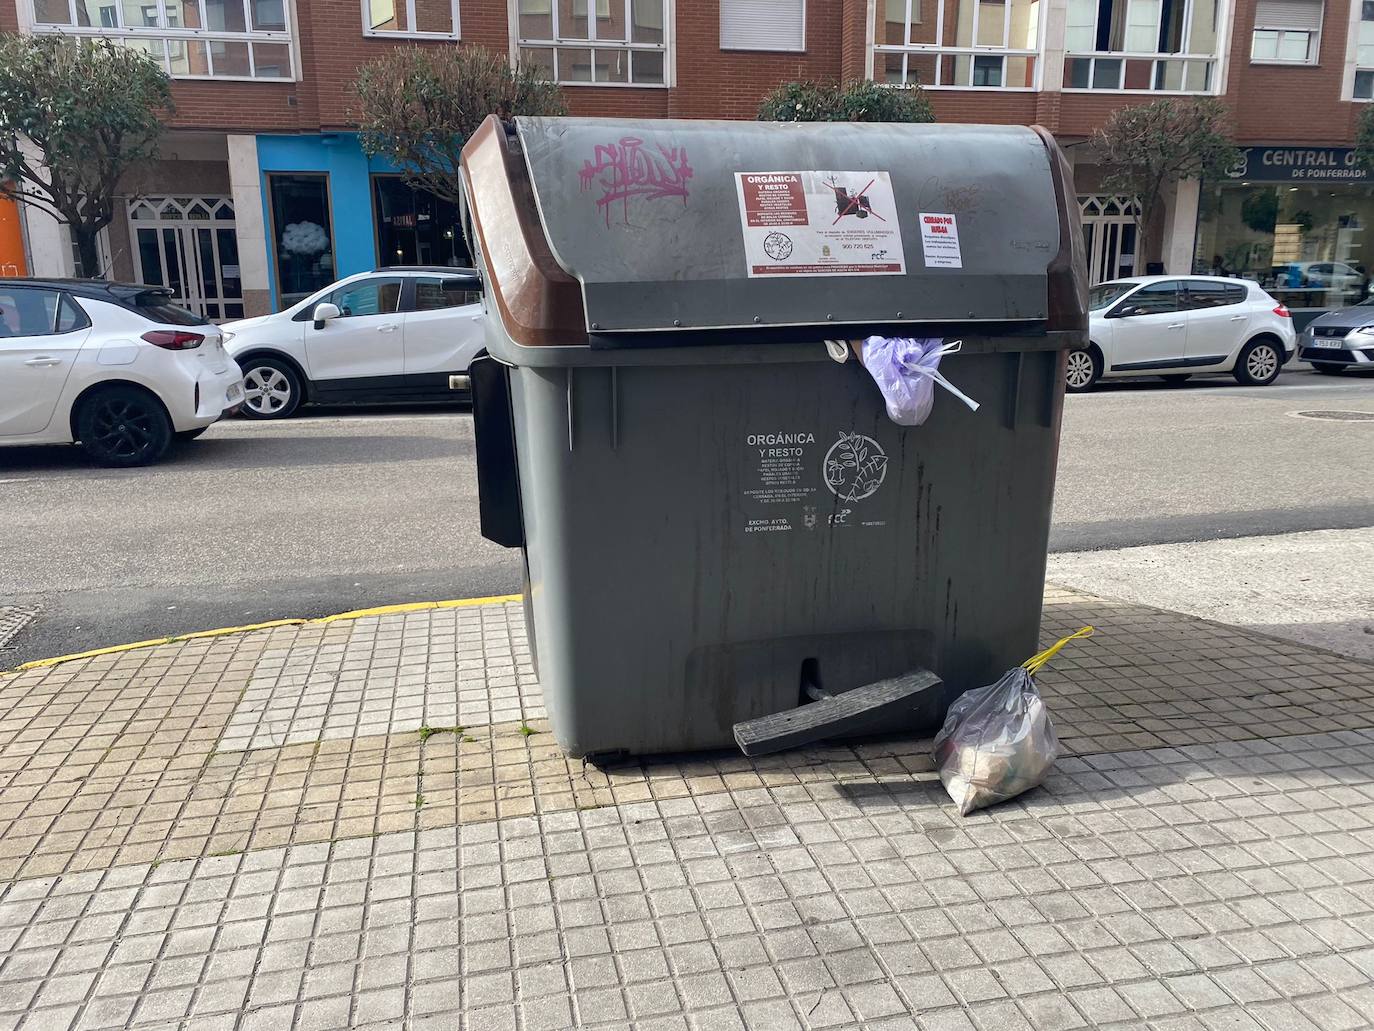
[[[1231,373],[1272,384],[1297,349],[1293,316],[1248,279],[1135,276],[1088,291],[1087,348],[1069,352],[1069,390],[1103,377]]]

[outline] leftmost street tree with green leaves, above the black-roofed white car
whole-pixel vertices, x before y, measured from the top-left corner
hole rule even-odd
[[[158,150],[166,73],[109,40],[0,36],[0,194],[66,223],[87,276],[125,173]]]

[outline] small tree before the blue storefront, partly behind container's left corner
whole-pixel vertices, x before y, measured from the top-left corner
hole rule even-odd
[[[463,144],[486,115],[567,110],[554,82],[484,47],[397,47],[359,70],[353,92],[363,151],[452,203]]]

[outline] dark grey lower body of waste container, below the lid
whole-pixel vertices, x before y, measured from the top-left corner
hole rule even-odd
[[[981,411],[943,396],[901,428],[856,360],[734,351],[510,371],[539,678],[570,755],[728,746],[802,702],[804,667],[830,693],[923,667],[952,694],[1037,650],[1059,352],[949,357]],[[885,458],[867,496],[848,466],[827,485],[842,434]]]

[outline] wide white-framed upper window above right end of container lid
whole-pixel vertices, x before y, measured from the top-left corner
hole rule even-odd
[[[874,78],[932,89],[1035,89],[1041,0],[878,0]]]

